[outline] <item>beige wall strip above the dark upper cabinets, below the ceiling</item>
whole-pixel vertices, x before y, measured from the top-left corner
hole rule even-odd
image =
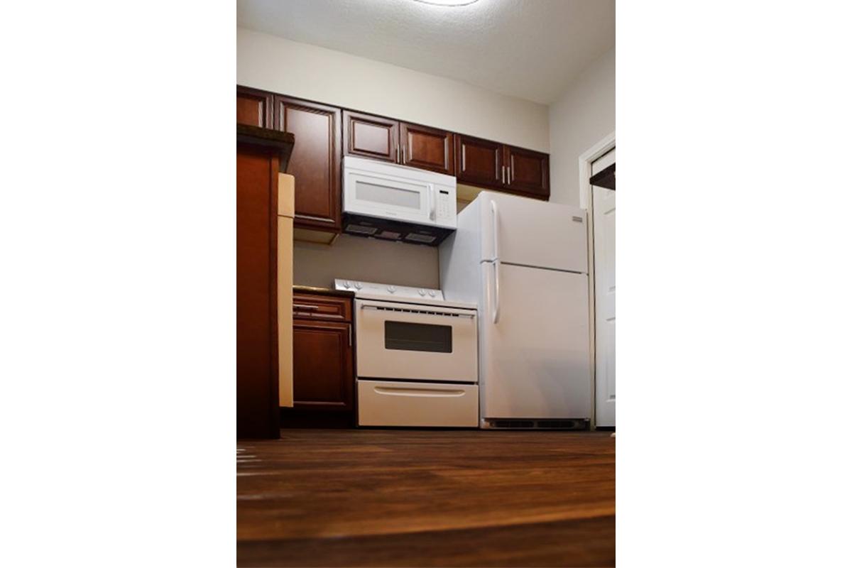
[[[548,152],[548,107],[237,28],[237,84]]]

